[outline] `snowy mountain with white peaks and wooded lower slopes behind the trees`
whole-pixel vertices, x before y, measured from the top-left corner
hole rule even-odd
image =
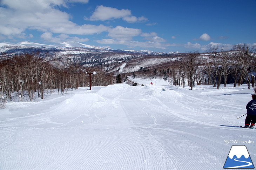
[[[178,52],[153,52],[149,50],[120,50],[86,45],[68,41],[55,45],[45,45],[23,41],[19,43],[0,43],[1,60],[14,55],[39,53],[46,61],[61,62],[73,60],[84,67],[101,66],[108,73],[131,73],[143,68],[167,66],[177,60]],[[123,65],[124,64],[124,65]],[[123,67],[122,67],[123,66]],[[125,67],[124,67],[125,66]]]

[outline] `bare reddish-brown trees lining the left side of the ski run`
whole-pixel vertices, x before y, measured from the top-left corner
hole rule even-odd
[[[92,86],[107,86],[106,74],[99,68],[94,71],[97,74],[92,76]],[[81,65],[68,58],[45,61],[39,53],[1,61],[0,75],[0,97],[5,101],[12,101],[14,97],[19,101],[26,98],[33,101],[35,97],[43,99],[44,94],[57,91],[65,94],[68,89],[89,85],[89,76]]]

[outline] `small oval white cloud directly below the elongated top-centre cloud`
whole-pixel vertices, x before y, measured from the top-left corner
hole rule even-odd
[[[115,40],[132,40],[133,36],[138,36],[140,34],[140,29],[116,26],[115,28],[108,30],[107,36]]]

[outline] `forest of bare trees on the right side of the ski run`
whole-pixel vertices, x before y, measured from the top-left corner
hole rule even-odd
[[[248,89],[254,88],[256,75],[255,47],[247,45],[234,45],[230,51],[224,48],[212,47],[207,53],[200,54],[198,51],[187,52],[181,60],[175,61],[170,66],[161,70],[154,69],[151,72],[146,68],[149,77],[169,77],[174,86],[185,86],[185,83],[192,90],[196,85],[212,84],[217,89],[220,84],[234,83],[234,87],[243,83]]]

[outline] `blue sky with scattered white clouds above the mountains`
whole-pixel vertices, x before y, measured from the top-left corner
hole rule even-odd
[[[0,42],[155,52],[256,45],[256,0],[0,0]]]

